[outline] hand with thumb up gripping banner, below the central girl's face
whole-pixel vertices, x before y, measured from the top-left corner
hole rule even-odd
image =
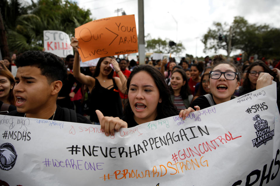
[[[101,126],[101,131],[105,132],[106,136],[113,136],[115,130],[118,132],[120,128],[127,128],[127,122],[123,121],[119,117],[108,117],[102,114],[99,110],[95,110],[99,123]]]

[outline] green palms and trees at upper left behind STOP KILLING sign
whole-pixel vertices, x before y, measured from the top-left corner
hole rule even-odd
[[[6,1],[6,6],[13,6]],[[19,0],[13,0],[19,2]],[[43,49],[43,31],[59,30],[73,36],[75,28],[92,21],[90,10],[77,6],[76,2],[62,0],[38,0],[31,4],[14,3],[18,12],[13,24],[8,23],[12,15],[6,14],[4,22],[8,31],[8,43],[11,51]],[[2,14],[3,15],[3,14]]]

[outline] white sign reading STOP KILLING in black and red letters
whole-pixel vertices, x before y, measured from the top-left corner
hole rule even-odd
[[[69,54],[74,55],[70,37],[67,33],[57,30],[44,30],[44,48],[46,52],[53,53],[61,58]]]

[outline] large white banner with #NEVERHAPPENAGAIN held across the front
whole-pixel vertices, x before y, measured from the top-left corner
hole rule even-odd
[[[280,182],[276,84],[123,128],[0,116],[2,185],[271,185]]]

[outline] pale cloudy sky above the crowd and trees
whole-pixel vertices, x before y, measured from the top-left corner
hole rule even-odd
[[[122,8],[127,15],[134,14],[138,33],[137,0],[77,0],[81,8],[90,9],[93,19],[117,16],[115,10]],[[121,15],[121,12],[119,12]],[[144,0],[145,35],[152,38],[169,38],[176,42],[176,22],[178,22],[178,41],[181,41],[185,53],[197,56],[213,55],[204,53],[201,42],[213,22],[232,23],[235,16],[243,16],[249,23],[269,24],[280,28],[280,0]],[[196,37],[198,37],[196,39]],[[197,41],[197,45],[196,45]],[[218,53],[226,54],[220,50]],[[237,54],[232,52],[231,55]]]

